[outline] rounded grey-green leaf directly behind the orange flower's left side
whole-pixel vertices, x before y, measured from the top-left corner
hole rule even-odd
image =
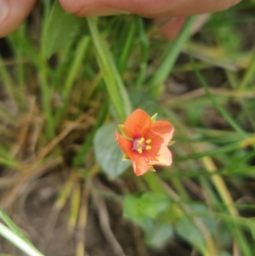
[[[130,162],[122,161],[123,152],[116,143],[113,124],[99,128],[94,137],[95,156],[105,174],[116,178],[130,166]]]

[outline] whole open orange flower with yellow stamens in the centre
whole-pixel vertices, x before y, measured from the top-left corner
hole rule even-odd
[[[124,152],[123,160],[131,160],[133,171],[142,175],[153,165],[170,166],[172,155],[167,146],[173,137],[170,122],[156,121],[142,110],[133,111],[124,125],[119,125],[122,135],[115,133],[116,142]]]

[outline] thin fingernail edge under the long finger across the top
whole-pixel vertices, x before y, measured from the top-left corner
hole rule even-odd
[[[1,1],[1,0],[0,0]],[[80,12],[79,15],[85,16],[111,16],[111,15],[118,15],[118,14],[130,14],[127,11],[123,11],[120,9],[113,9],[113,8],[104,8],[104,9],[95,9],[95,8],[88,8],[84,7]]]

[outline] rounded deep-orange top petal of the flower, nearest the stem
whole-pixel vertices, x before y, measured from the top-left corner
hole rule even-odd
[[[144,111],[138,109],[127,117],[124,123],[124,132],[133,139],[144,137],[151,126],[150,116]]]

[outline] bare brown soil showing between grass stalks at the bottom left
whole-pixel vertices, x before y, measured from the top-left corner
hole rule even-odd
[[[67,202],[55,225],[48,226],[54,202],[61,188],[59,174],[48,174],[30,185],[29,191],[20,194],[11,208],[12,219],[20,230],[44,255],[72,256],[76,254],[77,230],[71,231],[68,225],[70,202]],[[26,196],[25,196],[26,195]],[[94,202],[88,203],[88,220],[84,233],[86,256],[188,256],[190,247],[178,240],[172,240],[161,250],[146,247],[143,234],[129,220],[122,218],[122,206],[113,200],[107,200],[107,211],[110,216],[111,230],[116,236],[125,254],[115,253],[107,241],[99,223],[99,214]],[[24,255],[9,242],[0,238],[0,252]]]

